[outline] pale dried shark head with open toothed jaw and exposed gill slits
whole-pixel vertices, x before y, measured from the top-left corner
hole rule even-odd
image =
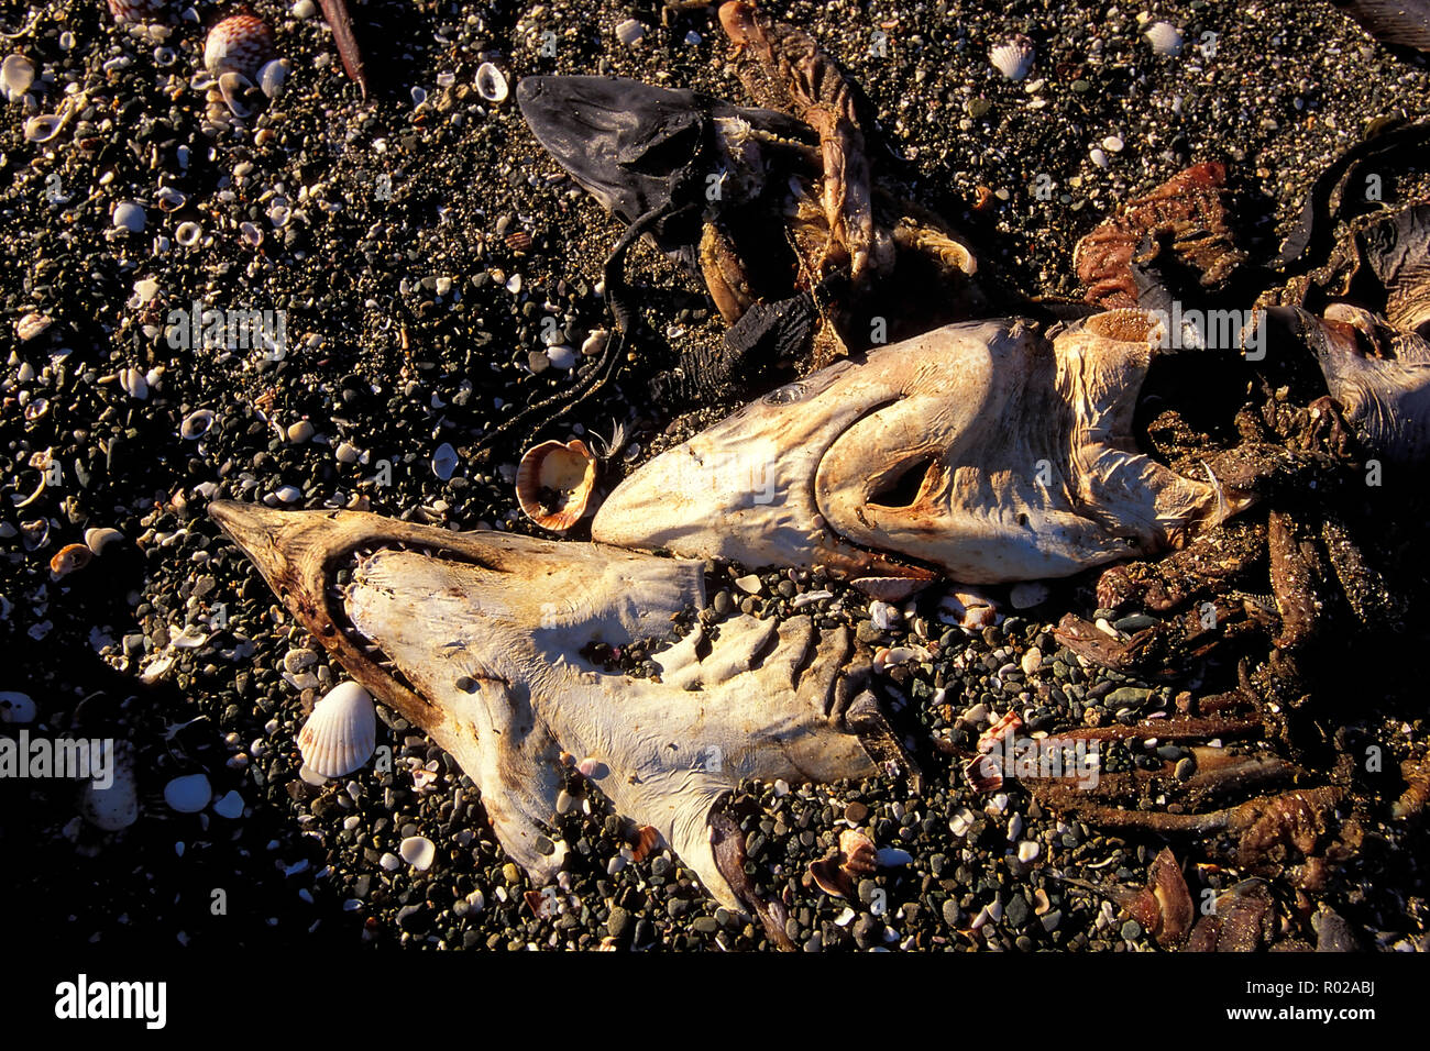
[[[353,679],[456,758],[536,881],[562,864],[541,827],[556,815],[565,751],[596,759],[593,781],[615,809],[658,829],[716,901],[776,928],[778,907],[754,898],[731,844],[738,829],[716,804],[741,778],[878,769],[857,735],[869,712],[849,702],[861,672],[848,671],[848,632],[817,639],[808,618],[738,616],[704,659],[689,641],[656,656],[674,682],[581,655],[661,635],[702,606],[696,562],[360,512],[220,502],[210,513]],[[343,566],[346,591],[335,586]]]

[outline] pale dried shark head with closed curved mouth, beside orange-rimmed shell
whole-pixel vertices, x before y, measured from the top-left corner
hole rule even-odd
[[[1135,448],[1161,329],[1117,310],[1054,342],[951,325],[766,395],[636,470],[592,536],[746,565],[822,563],[905,593],[1068,576],[1181,542],[1248,500]]]

